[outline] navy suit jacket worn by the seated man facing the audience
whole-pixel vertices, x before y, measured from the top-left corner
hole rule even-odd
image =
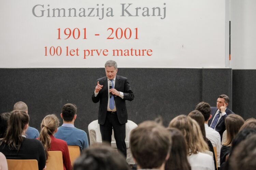
[[[212,118],[208,121],[208,125],[210,126],[213,116],[215,115],[216,111],[218,110],[217,107],[211,107],[211,115]],[[216,124],[215,130],[221,135],[221,140],[222,140],[222,134],[226,130],[226,124],[225,124],[225,119],[228,117],[228,115],[234,114],[231,110],[226,108],[226,115],[222,116],[219,122]]]

